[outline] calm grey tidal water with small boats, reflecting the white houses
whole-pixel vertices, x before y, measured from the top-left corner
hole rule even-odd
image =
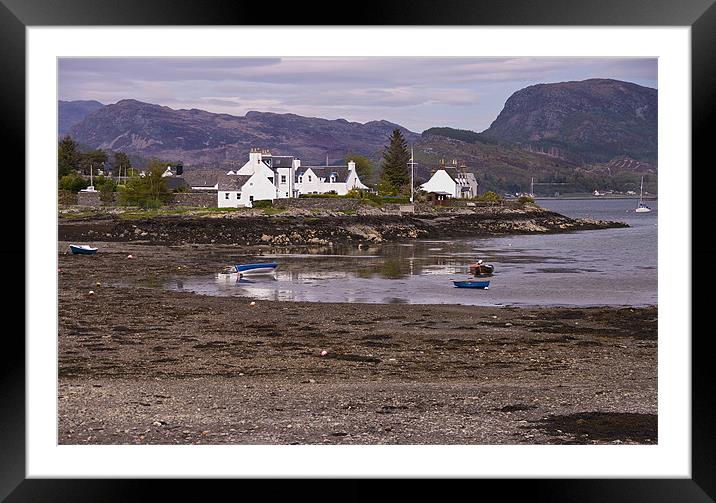
[[[256,300],[490,306],[645,306],[657,304],[657,201],[635,213],[635,200],[538,200],[574,218],[626,222],[629,228],[499,238],[414,240],[368,249],[227,257],[277,262],[275,274],[216,274],[165,286]],[[487,290],[455,288],[468,265],[495,266]]]

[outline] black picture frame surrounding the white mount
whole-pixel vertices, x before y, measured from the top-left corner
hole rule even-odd
[[[324,12],[316,17],[316,12]],[[714,0],[491,0],[482,2],[429,0],[364,1],[350,15],[340,14],[333,6],[307,8],[305,4],[281,5],[261,2],[212,0],[0,0],[0,101],[3,120],[0,138],[5,152],[17,154],[15,166],[25,165],[25,29],[32,26],[91,25],[535,25],[535,26],[683,26],[691,28],[692,64],[692,165],[702,166],[699,186],[709,183],[714,169],[709,153],[708,126],[716,110],[716,5]],[[711,161],[711,162],[709,162]],[[10,168],[9,166],[5,166]],[[12,168],[17,172],[16,168]],[[684,166],[684,176],[691,167]],[[709,173],[709,171],[711,173]],[[704,176],[706,178],[704,178]],[[16,177],[16,175],[15,175]],[[21,179],[20,181],[24,181]],[[14,179],[17,183],[17,177]],[[24,186],[24,184],[22,184]],[[708,195],[708,194],[707,194]],[[22,197],[22,196],[21,196]],[[710,214],[708,199],[692,199],[694,217]],[[23,205],[21,201],[19,203]],[[22,206],[18,206],[22,207]],[[9,235],[24,234],[24,219],[7,224]],[[699,229],[692,223],[692,230]],[[693,234],[692,261],[713,259],[716,255],[708,237]],[[16,243],[19,239],[14,239]],[[8,281],[20,284],[20,268],[24,251],[3,244],[5,263],[13,264]],[[685,259],[685,258],[684,258]],[[691,271],[687,271],[691,274]],[[13,277],[12,275],[16,277]],[[712,273],[700,272],[693,278],[693,287],[710,284]],[[24,279],[24,274],[23,278]],[[692,313],[708,312],[708,296],[692,294]],[[23,302],[16,295],[14,302]],[[20,300],[23,299],[23,300]],[[32,302],[32,299],[27,299]],[[11,311],[7,301],[6,309]],[[19,306],[17,306],[19,307]],[[25,306],[26,307],[26,306]],[[703,317],[703,314],[702,314]],[[693,319],[693,318],[692,318]],[[691,333],[666,334],[688,338]],[[712,383],[714,365],[708,348],[710,331],[694,331],[692,347],[692,478],[691,479],[477,479],[479,491],[497,490],[502,499],[519,501],[610,501],[610,502],[707,502],[716,500],[716,425]],[[162,499],[171,492],[179,499],[207,499],[206,488],[188,480],[71,480],[27,479],[25,476],[25,344],[20,331],[5,331],[2,365],[0,365],[0,500],[16,501],[128,501],[145,499],[146,491],[161,486]],[[167,484],[166,482],[170,482]],[[229,481],[224,481],[229,482]],[[315,482],[304,485],[312,498],[317,494]],[[343,485],[340,499],[371,498],[373,494],[361,481]],[[249,494],[253,482],[241,481]],[[222,490],[226,483],[213,483],[212,489]],[[450,492],[463,491],[464,484],[451,486]],[[275,489],[275,488],[274,488]],[[468,489],[475,493],[475,487]],[[293,489],[296,491],[296,488]],[[301,489],[298,489],[300,492]],[[422,484],[407,484],[399,490],[401,499],[423,491]],[[320,491],[319,491],[320,492]],[[484,493],[490,494],[490,493]],[[494,493],[493,493],[494,494]],[[329,496],[336,496],[328,494]],[[390,491],[383,496],[391,495]],[[325,494],[324,494],[325,496]],[[445,496],[445,495],[443,495]],[[295,497],[295,495],[294,495]]]

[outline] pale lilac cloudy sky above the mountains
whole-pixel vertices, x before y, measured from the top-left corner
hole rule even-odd
[[[136,99],[174,109],[294,113],[483,131],[515,91],[609,78],[657,88],[637,58],[61,58],[60,100]]]

